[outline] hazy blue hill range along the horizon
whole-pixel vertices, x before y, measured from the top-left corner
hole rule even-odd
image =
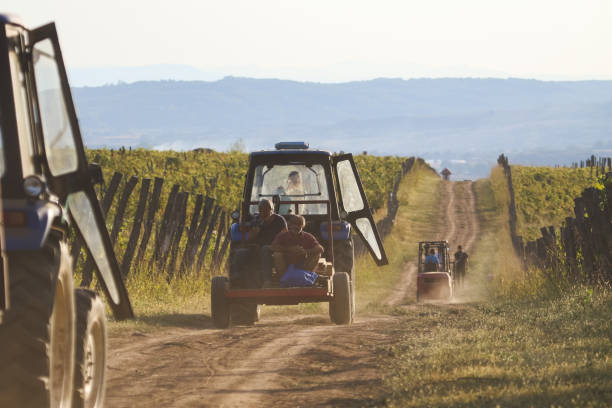
[[[429,155],[465,177],[483,175],[502,151],[513,162],[534,152],[566,152],[571,161],[612,148],[612,81],[227,77],[73,92],[92,147],[225,150],[243,139],[258,149],[307,140],[333,151]]]

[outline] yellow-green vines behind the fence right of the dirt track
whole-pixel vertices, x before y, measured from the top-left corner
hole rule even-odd
[[[574,198],[596,183],[590,168],[512,166],[517,233],[532,241],[541,227],[561,225],[574,216]]]

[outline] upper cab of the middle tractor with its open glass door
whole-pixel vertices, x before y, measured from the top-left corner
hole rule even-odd
[[[354,230],[374,261],[386,265],[387,257],[352,154],[332,155],[310,149],[303,142],[277,143],[275,147],[249,156],[241,221],[248,223],[257,213],[259,200],[269,198],[277,214],[302,215],[306,219],[304,230],[319,241],[333,241],[328,239],[329,225],[336,241],[352,241],[350,232]],[[326,258],[331,260],[330,245],[324,247]],[[342,266],[342,270],[350,269]]]

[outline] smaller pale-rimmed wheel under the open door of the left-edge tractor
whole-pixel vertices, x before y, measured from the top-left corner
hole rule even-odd
[[[104,405],[106,366],[106,316],[104,303],[95,292],[79,288],[76,300],[76,352],[73,407]]]

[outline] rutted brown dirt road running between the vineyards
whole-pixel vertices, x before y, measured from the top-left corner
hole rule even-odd
[[[478,230],[472,183],[442,186],[444,230],[423,239],[448,239],[469,251]],[[408,264],[386,303],[413,303],[414,281]],[[326,314],[264,316],[253,327],[217,330],[194,316],[155,333],[111,336],[107,406],[380,404],[380,362],[396,341],[397,319],[366,315],[336,326]]]

